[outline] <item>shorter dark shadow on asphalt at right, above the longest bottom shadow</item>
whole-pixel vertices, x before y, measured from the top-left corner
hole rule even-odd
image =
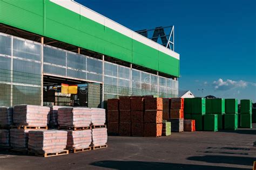
[[[251,157],[231,157],[225,155],[205,155],[202,157],[189,157],[188,160],[203,161],[214,164],[235,164],[252,166],[256,158]]]

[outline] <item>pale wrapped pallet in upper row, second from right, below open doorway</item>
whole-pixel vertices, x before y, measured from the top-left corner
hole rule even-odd
[[[91,124],[91,114],[90,108],[59,108],[58,124],[61,127],[87,127]]]

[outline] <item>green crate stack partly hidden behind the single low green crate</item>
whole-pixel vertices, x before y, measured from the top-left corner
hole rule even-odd
[[[206,114],[217,114],[218,130],[224,129],[225,99],[206,99]]]

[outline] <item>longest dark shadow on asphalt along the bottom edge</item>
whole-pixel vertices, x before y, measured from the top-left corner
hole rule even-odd
[[[208,165],[191,165],[191,164],[172,164],[165,162],[144,162],[144,161],[114,161],[105,160],[93,162],[93,166],[113,169],[190,169],[190,170],[247,170],[247,168],[233,168],[233,167],[222,167],[222,166],[208,166]]]

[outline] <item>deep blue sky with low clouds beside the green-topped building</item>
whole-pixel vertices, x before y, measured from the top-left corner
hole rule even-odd
[[[180,90],[256,102],[255,0],[76,1],[131,30],[174,25]]]

